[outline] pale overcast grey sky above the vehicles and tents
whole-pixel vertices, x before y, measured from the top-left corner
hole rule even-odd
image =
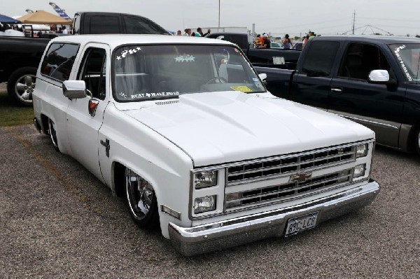
[[[57,0],[73,17],[83,10],[132,13],[172,31],[187,27],[247,27],[272,36],[351,34],[420,34],[419,0]],[[46,0],[3,0],[0,13],[25,15],[26,9],[55,10]]]

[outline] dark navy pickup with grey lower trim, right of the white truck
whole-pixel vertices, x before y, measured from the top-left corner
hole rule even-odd
[[[272,94],[364,124],[381,145],[420,153],[419,62],[419,38],[320,36],[295,70],[256,70]]]

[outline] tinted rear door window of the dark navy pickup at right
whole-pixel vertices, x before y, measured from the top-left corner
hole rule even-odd
[[[314,76],[330,76],[338,48],[338,42],[311,42],[302,62],[302,72]]]

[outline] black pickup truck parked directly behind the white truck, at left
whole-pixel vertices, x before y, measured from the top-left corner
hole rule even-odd
[[[139,15],[79,12],[73,20],[75,34],[168,34],[160,25]],[[32,106],[38,64],[51,38],[0,36],[0,83],[21,106]]]

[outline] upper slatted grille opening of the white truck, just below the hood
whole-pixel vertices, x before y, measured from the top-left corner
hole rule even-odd
[[[230,166],[227,169],[226,185],[238,185],[282,176],[285,173],[344,164],[356,159],[355,152],[355,146],[346,146]]]

